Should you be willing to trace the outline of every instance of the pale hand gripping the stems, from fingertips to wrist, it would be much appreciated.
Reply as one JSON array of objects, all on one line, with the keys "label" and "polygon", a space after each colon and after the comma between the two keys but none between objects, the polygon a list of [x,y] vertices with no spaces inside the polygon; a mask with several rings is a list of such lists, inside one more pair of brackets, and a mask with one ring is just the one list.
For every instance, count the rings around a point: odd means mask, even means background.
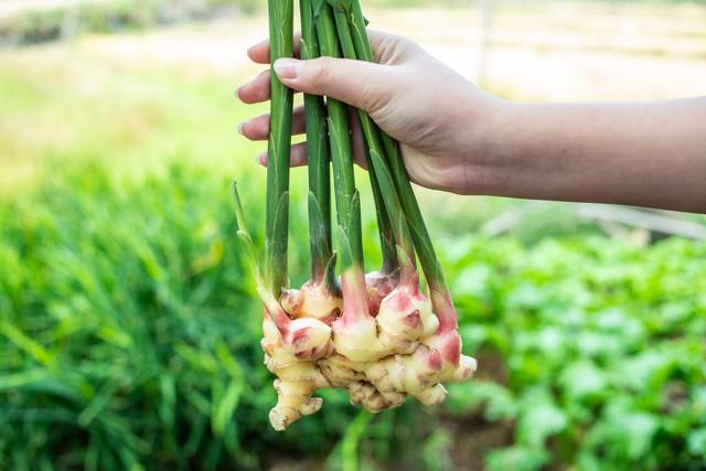
[{"label": "pale hand gripping the stems, from fingertips to wrist", "polygon": [[[488,129],[500,100],[434,58],[414,42],[370,31],[376,64],[343,58],[279,60],[275,71],[297,92],[325,95],[367,111],[373,120],[402,143],[410,179],[430,189],[473,192],[482,175]],[[298,45],[298,39],[295,40]],[[258,64],[269,64],[269,43],[248,51]],[[269,99],[270,71],[238,89],[244,103]],[[356,119],[352,122],[355,125]],[[252,140],[267,140],[269,115],[239,127]],[[362,137],[354,131],[356,162],[362,163]],[[292,133],[304,132],[303,107],[295,110]],[[266,163],[266,154],[260,156]],[[306,163],[306,146],[292,147],[293,165]]]}]

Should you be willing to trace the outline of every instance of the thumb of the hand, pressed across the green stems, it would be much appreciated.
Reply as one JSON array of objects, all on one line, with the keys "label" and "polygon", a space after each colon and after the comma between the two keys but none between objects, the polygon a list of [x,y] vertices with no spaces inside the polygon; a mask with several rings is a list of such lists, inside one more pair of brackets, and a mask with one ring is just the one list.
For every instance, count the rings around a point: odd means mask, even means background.
[{"label": "thumb of the hand, pressed across the green stems", "polygon": [[389,69],[371,62],[319,57],[310,61],[279,58],[272,67],[288,87],[325,95],[365,111],[374,110],[392,89]]}]

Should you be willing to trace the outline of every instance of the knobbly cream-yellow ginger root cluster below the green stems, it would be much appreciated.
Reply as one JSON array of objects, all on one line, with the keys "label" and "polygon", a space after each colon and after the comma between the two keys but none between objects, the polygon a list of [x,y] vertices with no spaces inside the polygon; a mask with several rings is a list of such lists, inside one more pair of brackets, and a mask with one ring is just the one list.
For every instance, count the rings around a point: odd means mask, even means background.
[{"label": "knobbly cream-yellow ginger root cluster below the green stems", "polygon": [[[392,309],[399,296],[396,289],[391,291],[383,304],[388,303]],[[405,310],[398,313],[399,318],[408,317]],[[437,334],[439,321],[430,310],[429,313],[434,319],[432,331],[406,331],[397,340],[388,336],[386,345],[379,340],[385,335],[379,314],[374,319],[359,311],[347,322],[343,314],[327,325],[329,331],[319,327],[320,321],[315,319],[291,320],[290,329],[306,332],[299,340],[296,335],[282,335],[272,317],[266,314],[263,322],[265,364],[278,377],[274,383],[278,400],[269,415],[272,427],[284,430],[301,417],[318,411],[322,399],[312,395],[323,387],[347,389],[351,404],[371,413],[397,407],[408,396],[427,406],[441,403],[447,395],[442,383],[469,379],[477,365],[466,355],[449,356],[449,350],[451,355],[460,352],[460,339],[456,332]],[[388,315],[394,318],[392,312]],[[304,320],[313,323],[295,327]],[[403,350],[406,353],[398,353]]]}]

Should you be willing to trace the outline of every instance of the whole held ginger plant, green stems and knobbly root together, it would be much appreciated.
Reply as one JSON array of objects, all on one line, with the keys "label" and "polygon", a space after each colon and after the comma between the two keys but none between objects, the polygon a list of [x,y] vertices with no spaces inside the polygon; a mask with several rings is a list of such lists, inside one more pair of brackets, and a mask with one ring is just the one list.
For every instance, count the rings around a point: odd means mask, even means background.
[{"label": "whole held ginger plant, green stems and knobbly root together", "polygon": [[[293,0],[269,0],[268,8],[270,58],[291,57]],[[300,0],[299,10],[301,58],[373,61],[359,0]],[[284,430],[318,411],[322,399],[314,393],[324,387],[346,389],[352,404],[373,413],[407,397],[439,404],[443,383],[469,379],[477,365],[461,354],[456,309],[397,142],[365,111],[353,117],[333,98],[304,95],[311,278],[288,288],[292,95],[271,77],[263,272],[235,184],[233,194],[237,235],[264,304],[265,365],[277,377],[272,427]],[[383,266],[367,275],[350,119],[359,120],[365,140],[383,253]]]}]

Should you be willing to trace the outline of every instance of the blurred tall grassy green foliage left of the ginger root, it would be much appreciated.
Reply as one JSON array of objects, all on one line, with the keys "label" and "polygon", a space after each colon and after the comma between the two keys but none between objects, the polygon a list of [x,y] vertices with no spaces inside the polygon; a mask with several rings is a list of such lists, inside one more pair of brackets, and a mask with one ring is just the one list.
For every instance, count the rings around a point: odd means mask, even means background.
[{"label": "blurred tall grassy green foliage left of the ginger root", "polygon": [[[393,413],[368,430],[372,417],[331,392],[327,414],[271,430],[229,175],[188,164],[140,179],[100,164],[52,173],[0,208],[0,467],[260,469],[338,456],[340,441],[341,467],[355,469],[363,437],[391,440],[394,424],[424,417]],[[242,176],[245,204],[263,201],[261,180]]]}]

